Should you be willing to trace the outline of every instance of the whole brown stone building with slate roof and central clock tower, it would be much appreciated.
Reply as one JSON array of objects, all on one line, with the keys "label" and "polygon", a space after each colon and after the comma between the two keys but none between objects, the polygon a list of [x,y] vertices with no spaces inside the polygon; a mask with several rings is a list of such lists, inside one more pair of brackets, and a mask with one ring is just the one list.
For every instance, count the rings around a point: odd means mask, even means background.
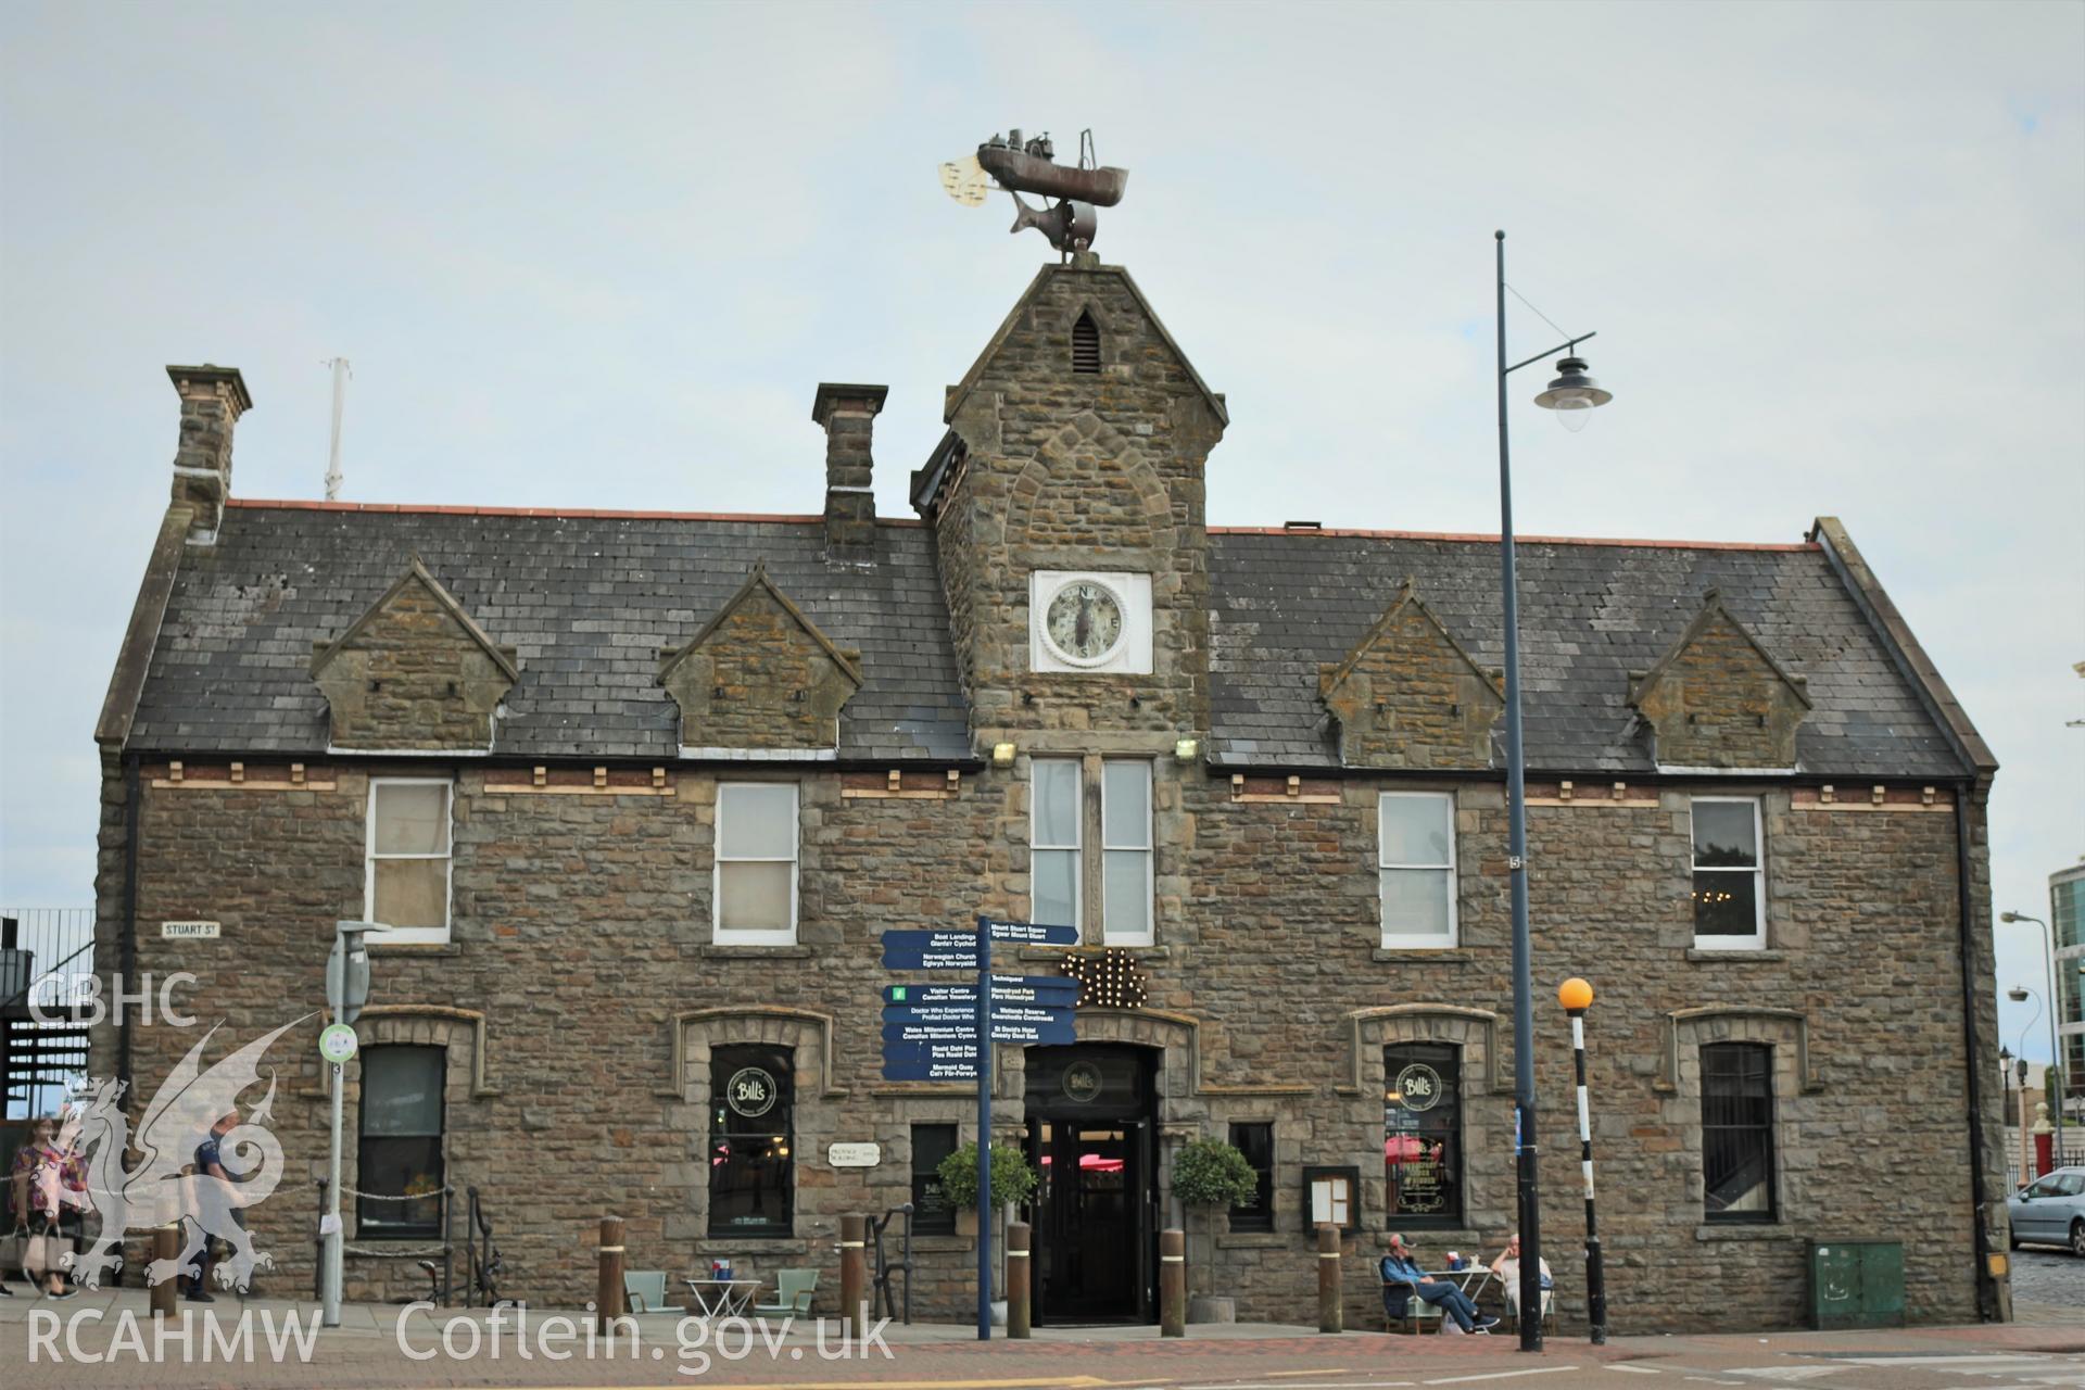
[{"label": "whole brown stone building with slate roof and central clock tower", "polygon": [[[1501,1246],[1497,544],[1209,527],[1226,400],[1122,269],[1034,277],[911,519],[874,517],[880,386],[817,388],[821,513],[723,517],[242,498],[242,375],[169,371],[173,502],[98,727],[100,967],[194,975],[217,1057],[321,1004],[338,919],[400,927],[348,1067],[350,1296],[423,1288],[384,1255],[440,1198],[382,1196],[475,1188],[532,1300],[590,1296],[617,1213],[632,1267],[815,1265],[821,1307],[838,1215],[917,1200],[915,1307],[963,1317],[932,1165],[974,1090],[884,1079],[878,938],[976,913],[1070,921],[1140,986],[992,1057],[995,1136],[1047,1173],[1042,1321],[1153,1317],[1195,1136],[1264,1175],[1184,1213],[1238,1317],[1307,1317],[1314,1219],[1362,1257],[1349,1325],[1387,1230]],[[1522,540],[1520,575],[1566,1325],[1574,973],[1618,1330],[1797,1323],[1812,1238],[1916,1234],[1912,1319],[2002,1313],[1995,765],[1847,531]],[[271,1057],[275,1288],[313,1277],[315,1029]],[[96,1071],[150,1096],[196,1036],[106,1025]]]}]

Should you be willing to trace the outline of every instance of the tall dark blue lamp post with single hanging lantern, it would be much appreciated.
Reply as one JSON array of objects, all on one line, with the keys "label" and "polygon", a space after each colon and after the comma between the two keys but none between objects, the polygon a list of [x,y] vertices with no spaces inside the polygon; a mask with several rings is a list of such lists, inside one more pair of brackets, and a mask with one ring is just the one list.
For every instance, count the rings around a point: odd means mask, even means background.
[{"label": "tall dark blue lamp post with single hanging lantern", "polygon": [[[1520,1307],[1543,1307],[1543,1221],[1541,1200],[1535,1192],[1535,977],[1528,961],[1528,806],[1526,806],[1526,763],[1520,752],[1520,602],[1514,592],[1514,473],[1505,433],[1505,377],[1539,363],[1551,352],[1564,352],[1557,363],[1557,379],[1549,383],[1535,404],[1557,411],[1566,429],[1585,425],[1585,411],[1614,400],[1614,392],[1601,390],[1599,381],[1585,375],[1585,361],[1576,356],[1580,342],[1593,333],[1580,333],[1549,352],[1507,367],[1505,363],[1505,233],[1497,233],[1499,250],[1499,586],[1505,590],[1505,811],[1510,821],[1510,844],[1505,867],[1514,890],[1514,1113],[1518,1117],[1518,1159],[1520,1159]],[[1543,1348],[1543,1319],[1520,1317],[1520,1350]]]}]

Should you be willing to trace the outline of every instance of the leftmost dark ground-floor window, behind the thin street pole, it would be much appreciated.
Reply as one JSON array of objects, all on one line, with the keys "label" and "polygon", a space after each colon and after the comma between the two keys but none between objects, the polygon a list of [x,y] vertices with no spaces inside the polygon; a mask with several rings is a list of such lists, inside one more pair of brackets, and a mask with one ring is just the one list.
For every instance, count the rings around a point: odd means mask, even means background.
[{"label": "leftmost dark ground-floor window, behind the thin street pole", "polygon": [[[363,1236],[442,1232],[442,1048],[363,1052],[354,1221]],[[396,1200],[423,1198],[423,1200]]]}]

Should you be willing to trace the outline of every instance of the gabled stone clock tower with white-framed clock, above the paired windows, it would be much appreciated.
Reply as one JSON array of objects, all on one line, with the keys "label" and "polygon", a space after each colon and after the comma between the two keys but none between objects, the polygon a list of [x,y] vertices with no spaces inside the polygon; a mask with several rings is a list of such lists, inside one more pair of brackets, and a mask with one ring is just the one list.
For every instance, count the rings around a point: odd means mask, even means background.
[{"label": "gabled stone clock tower with white-framed clock, above the paired windows", "polygon": [[[913,504],[934,525],[974,738],[1205,731],[1203,467],[1228,417],[1128,271],[1090,254],[1045,267],[945,419]],[[1053,623],[1068,584],[1082,588]]]}]

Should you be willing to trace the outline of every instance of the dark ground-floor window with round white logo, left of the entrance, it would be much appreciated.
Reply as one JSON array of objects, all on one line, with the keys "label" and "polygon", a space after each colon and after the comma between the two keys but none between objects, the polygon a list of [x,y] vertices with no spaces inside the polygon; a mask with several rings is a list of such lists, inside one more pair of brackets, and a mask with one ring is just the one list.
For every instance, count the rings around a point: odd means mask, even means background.
[{"label": "dark ground-floor window with round white logo, left of the entrance", "polygon": [[786,1048],[709,1054],[709,1234],[788,1236],[796,1086]]}]

